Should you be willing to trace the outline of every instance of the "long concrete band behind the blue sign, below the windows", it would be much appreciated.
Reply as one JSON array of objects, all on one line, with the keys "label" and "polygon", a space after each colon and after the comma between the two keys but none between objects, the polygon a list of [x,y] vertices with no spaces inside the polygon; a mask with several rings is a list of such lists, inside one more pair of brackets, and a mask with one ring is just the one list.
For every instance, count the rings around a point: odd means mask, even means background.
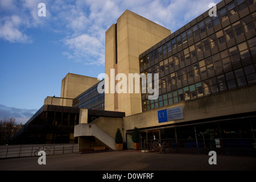
[{"label": "long concrete band behind the blue sign, below the windows", "polygon": [[[229,90],[207,97],[197,98],[178,104],[148,110],[141,114],[130,115],[124,118],[125,130],[169,125],[172,123],[195,121],[198,119],[220,117],[231,114],[256,111],[256,85]],[[158,110],[176,106],[183,106],[184,119],[176,121],[158,122]]]}]

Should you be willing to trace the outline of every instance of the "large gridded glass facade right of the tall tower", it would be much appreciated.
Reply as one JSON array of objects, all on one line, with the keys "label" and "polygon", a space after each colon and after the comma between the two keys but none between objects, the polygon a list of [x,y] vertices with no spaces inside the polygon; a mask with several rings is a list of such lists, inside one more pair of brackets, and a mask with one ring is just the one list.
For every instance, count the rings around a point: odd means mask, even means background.
[{"label": "large gridded glass facade right of the tall tower", "polygon": [[142,53],[141,73],[159,73],[159,98],[142,93],[142,110],[255,84],[255,3],[222,1]]}]

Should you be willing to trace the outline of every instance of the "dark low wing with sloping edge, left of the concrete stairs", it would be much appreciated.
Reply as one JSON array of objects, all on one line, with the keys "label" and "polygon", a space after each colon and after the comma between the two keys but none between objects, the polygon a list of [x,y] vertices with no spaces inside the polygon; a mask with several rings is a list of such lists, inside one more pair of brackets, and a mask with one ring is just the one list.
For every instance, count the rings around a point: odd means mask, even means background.
[{"label": "dark low wing with sloping edge, left of the concrete stairs", "polygon": [[79,109],[44,105],[20,129],[12,144],[77,143],[74,126],[79,123]]}]

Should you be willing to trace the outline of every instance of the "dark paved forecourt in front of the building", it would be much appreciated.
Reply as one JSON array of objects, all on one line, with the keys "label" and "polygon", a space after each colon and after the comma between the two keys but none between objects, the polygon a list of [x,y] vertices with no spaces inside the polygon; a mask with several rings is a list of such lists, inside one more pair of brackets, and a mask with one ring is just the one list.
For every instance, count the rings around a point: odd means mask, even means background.
[{"label": "dark paved forecourt in front of the building", "polygon": [[124,150],[93,154],[0,159],[0,171],[256,171],[256,158],[217,155],[217,164],[208,163],[208,155],[158,154]]}]

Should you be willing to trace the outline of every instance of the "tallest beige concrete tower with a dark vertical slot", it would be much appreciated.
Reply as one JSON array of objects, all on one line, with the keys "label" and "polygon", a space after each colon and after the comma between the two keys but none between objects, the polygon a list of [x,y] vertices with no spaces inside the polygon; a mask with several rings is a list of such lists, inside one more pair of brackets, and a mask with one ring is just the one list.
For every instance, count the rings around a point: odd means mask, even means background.
[{"label": "tallest beige concrete tower with a dark vertical slot", "polygon": [[[139,74],[139,54],[170,34],[167,28],[126,10],[117,19],[117,24],[106,31],[105,73],[110,77],[110,69],[115,68],[115,72],[124,73],[127,78],[129,73]],[[115,100],[118,100],[118,105]],[[141,113],[141,94],[129,94],[128,90],[118,95],[105,93],[105,110],[122,111],[126,115]]]}]

